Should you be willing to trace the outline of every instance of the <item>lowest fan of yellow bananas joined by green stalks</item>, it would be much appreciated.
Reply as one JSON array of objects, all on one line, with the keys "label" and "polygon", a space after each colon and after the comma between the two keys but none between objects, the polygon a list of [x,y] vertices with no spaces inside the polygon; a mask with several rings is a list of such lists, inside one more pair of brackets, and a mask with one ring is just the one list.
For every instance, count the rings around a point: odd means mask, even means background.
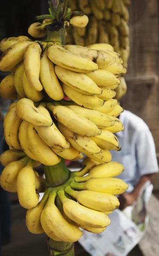
[{"label": "lowest fan of yellow bananas joined by green stalks", "polygon": [[81,171],[72,172],[63,185],[47,188],[38,205],[28,209],[28,230],[45,232],[51,239],[65,242],[80,239],[81,229],[102,233],[111,222],[107,215],[119,207],[115,195],[128,187],[115,178],[123,170],[119,163],[99,164],[85,157]]}]

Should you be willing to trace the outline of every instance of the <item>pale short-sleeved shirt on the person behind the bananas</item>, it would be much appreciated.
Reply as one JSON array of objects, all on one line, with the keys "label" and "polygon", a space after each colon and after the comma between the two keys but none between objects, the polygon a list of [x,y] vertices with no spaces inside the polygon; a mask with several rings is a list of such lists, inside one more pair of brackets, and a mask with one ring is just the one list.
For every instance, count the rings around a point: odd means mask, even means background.
[{"label": "pale short-sleeved shirt on the person behind the bananas", "polygon": [[159,171],[153,136],[146,123],[130,111],[120,115],[124,131],[116,133],[121,151],[110,151],[112,160],[123,164],[125,170],[118,178],[124,180],[132,192],[143,175]]}]

